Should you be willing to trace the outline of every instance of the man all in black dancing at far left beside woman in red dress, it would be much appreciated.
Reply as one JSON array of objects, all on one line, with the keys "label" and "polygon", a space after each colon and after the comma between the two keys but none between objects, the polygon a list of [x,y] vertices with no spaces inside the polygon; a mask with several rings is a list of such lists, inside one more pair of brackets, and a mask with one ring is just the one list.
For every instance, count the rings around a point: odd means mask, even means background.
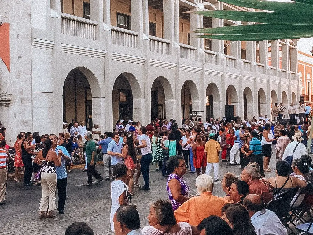
[{"label": "man all in black dancing at far left beside woman in red dress", "polygon": [[24,186],[32,186],[33,184],[30,182],[33,175],[33,161],[32,155],[37,155],[38,153],[34,153],[30,150],[31,142],[33,140],[32,133],[27,132],[25,134],[25,139],[22,143],[22,161],[25,166],[24,171]]}]

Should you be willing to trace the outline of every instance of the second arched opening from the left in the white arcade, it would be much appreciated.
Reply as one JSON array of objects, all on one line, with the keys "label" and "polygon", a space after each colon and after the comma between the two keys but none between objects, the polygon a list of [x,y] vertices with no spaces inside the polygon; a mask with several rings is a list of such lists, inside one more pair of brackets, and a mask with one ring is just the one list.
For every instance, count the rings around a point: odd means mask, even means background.
[{"label": "second arched opening from the left in the white arcade", "polygon": [[[134,92],[133,92],[134,91]],[[141,98],[141,89],[136,78],[128,72],[117,76],[113,90],[113,125],[117,120],[141,121],[142,106],[136,100]],[[135,109],[135,107],[137,107]],[[134,113],[134,110],[137,110]]]}]

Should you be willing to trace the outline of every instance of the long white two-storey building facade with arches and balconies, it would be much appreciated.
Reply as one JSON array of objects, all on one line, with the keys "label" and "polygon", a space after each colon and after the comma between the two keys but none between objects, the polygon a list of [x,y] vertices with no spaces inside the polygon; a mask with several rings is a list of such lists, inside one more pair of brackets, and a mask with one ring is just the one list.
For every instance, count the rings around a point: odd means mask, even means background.
[{"label": "long white two-storey building facade with arches and balconies", "polygon": [[22,130],[58,133],[71,119],[104,131],[118,119],[147,124],[191,111],[222,118],[226,105],[233,116],[252,118],[270,115],[271,103],[300,98],[296,40],[229,42],[192,33],[250,24],[194,10],[248,8],[215,0],[0,4],[0,32],[7,25],[10,45],[9,63],[0,54],[0,120],[11,144]]}]

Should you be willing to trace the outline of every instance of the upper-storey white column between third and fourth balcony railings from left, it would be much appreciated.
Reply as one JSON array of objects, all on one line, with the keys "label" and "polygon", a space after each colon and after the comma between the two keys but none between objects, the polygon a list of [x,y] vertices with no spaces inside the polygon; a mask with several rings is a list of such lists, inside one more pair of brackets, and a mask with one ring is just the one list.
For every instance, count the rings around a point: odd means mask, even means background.
[{"label": "upper-storey white column between third and fourth balcony railings from left", "polygon": [[[178,16],[177,16],[178,17]],[[172,43],[169,44],[169,54],[174,54],[174,42],[175,35],[178,34],[179,40],[179,26],[178,19],[176,19],[176,15],[174,15],[174,2],[172,0],[163,0],[163,19],[164,22],[164,39],[170,40]]]}]

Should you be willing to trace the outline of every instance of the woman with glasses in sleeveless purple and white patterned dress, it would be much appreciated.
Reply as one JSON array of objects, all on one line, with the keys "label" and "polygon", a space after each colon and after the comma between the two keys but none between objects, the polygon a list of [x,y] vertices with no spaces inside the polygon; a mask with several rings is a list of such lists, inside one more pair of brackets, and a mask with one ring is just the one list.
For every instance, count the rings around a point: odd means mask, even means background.
[{"label": "woman with glasses in sleeveless purple and white patterned dress", "polygon": [[192,195],[189,194],[190,187],[182,177],[186,173],[186,163],[181,156],[172,156],[168,160],[167,170],[171,172],[168,176],[166,189],[173,210],[175,211],[182,203],[187,201]]}]

